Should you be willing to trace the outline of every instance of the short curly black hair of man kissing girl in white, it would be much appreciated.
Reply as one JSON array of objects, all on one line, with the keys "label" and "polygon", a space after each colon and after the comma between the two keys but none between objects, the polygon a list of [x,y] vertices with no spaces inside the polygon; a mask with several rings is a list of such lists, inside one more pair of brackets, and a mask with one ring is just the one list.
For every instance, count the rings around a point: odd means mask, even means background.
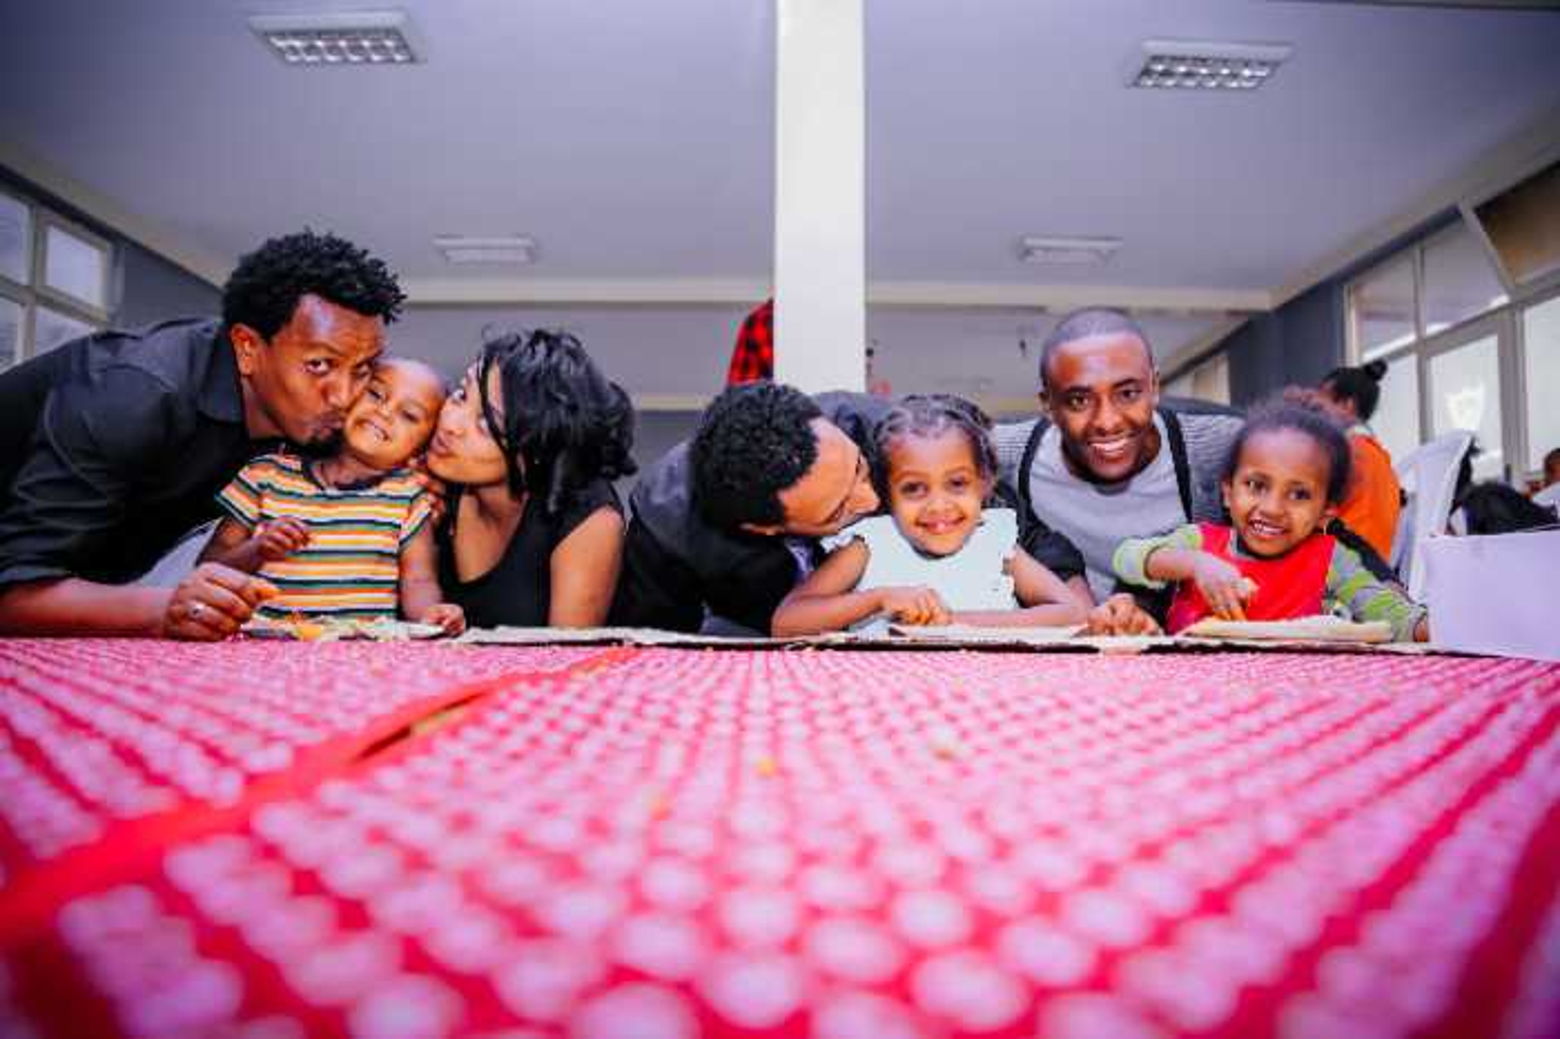
[{"label": "short curly black hair of man kissing girl in white", "polygon": [[777,382],[733,385],[714,398],[690,448],[699,515],[724,530],[785,523],[780,491],[817,462],[811,423],[822,413],[813,398]]}]

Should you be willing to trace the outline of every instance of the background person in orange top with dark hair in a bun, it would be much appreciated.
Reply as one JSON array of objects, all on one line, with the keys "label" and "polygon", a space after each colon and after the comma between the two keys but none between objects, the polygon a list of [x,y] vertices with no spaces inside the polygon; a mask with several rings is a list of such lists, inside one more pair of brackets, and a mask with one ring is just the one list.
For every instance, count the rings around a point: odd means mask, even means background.
[{"label": "background person in orange top with dark hair in a bun", "polygon": [[1338,520],[1360,535],[1382,559],[1392,557],[1392,538],[1402,512],[1402,487],[1392,471],[1392,456],[1376,440],[1367,423],[1381,401],[1385,360],[1359,368],[1334,368],[1321,381],[1320,398],[1342,415],[1349,435],[1348,495],[1338,505]]}]

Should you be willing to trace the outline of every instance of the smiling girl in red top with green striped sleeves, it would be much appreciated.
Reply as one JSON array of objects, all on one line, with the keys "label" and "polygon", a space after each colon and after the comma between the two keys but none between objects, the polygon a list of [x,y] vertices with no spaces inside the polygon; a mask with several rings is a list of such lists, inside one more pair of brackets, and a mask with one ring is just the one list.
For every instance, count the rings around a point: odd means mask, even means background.
[{"label": "smiling girl in red top with green striped sleeves", "polygon": [[1331,418],[1289,401],[1260,406],[1225,466],[1231,526],[1187,524],[1129,538],[1115,551],[1115,569],[1131,583],[1178,582],[1165,622],[1172,633],[1209,615],[1284,621],[1343,613],[1387,621],[1398,640],[1424,641],[1424,608],[1321,532],[1348,485],[1349,445]]}]

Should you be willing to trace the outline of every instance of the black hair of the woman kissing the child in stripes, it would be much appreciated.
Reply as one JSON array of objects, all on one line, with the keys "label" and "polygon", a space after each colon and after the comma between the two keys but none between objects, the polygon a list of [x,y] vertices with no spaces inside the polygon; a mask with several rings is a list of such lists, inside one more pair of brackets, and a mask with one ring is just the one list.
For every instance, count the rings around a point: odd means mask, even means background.
[{"label": "black hair of the woman kissing the child in stripes", "polygon": [[[488,398],[498,371],[502,418]],[[507,332],[482,343],[477,393],[482,415],[504,451],[509,485],[541,501],[548,513],[565,507],[587,482],[636,471],[633,406],[621,385],[563,331]]]}]

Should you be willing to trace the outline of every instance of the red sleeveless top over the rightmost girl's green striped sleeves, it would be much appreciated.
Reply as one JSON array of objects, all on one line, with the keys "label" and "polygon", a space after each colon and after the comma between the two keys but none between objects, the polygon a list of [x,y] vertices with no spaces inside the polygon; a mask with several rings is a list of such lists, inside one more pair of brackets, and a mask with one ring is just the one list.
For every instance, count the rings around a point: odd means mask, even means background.
[{"label": "red sleeveless top over the rightmost girl's green striped sleeves", "polygon": [[[1246,602],[1248,621],[1289,621],[1296,616],[1321,613],[1321,593],[1328,585],[1328,566],[1332,563],[1334,540],[1326,534],[1312,534],[1278,559],[1248,559],[1231,552],[1232,527],[1211,523],[1197,524],[1203,532],[1203,551],[1236,568],[1257,583],[1257,591]],[[1165,629],[1175,635],[1181,629],[1211,616],[1195,580],[1176,585],[1170,601]]]}]

